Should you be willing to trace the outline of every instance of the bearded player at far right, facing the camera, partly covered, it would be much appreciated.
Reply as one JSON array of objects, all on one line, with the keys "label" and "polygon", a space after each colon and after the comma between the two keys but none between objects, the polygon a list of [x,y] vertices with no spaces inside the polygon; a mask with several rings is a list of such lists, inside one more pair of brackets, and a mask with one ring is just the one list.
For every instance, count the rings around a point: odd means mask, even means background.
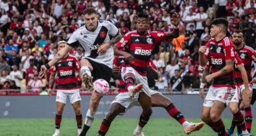
[{"label": "bearded player at far right, facing the camera, partly covered", "polygon": [[[240,31],[236,31],[233,33],[233,43],[235,45],[235,51],[239,54],[240,59],[244,63],[244,68],[246,69],[246,74],[248,76],[249,84],[251,82],[251,61],[256,62],[256,52],[251,47],[244,45],[244,35]],[[252,113],[251,113],[251,85],[250,89],[245,89],[247,86],[243,80],[240,73],[237,73],[238,69],[235,68],[235,73],[237,74],[237,78],[235,80],[236,84],[239,86],[240,94],[242,95],[242,103],[240,104],[240,109],[244,109],[246,120],[246,128],[250,132],[251,131],[251,123],[252,123]],[[232,134],[235,129],[235,119],[233,119],[231,127],[227,132]],[[239,133],[238,133],[239,135]]]}]

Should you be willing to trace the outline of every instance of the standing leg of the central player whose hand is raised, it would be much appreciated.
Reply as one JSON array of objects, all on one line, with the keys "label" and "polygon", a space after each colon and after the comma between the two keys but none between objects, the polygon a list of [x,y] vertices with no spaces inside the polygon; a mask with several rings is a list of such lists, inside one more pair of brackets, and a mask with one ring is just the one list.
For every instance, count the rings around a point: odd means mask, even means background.
[{"label": "standing leg of the central player whose hand is raised", "polygon": [[150,96],[141,92],[139,94],[139,104],[141,104],[141,107],[143,108],[143,112],[141,113],[141,117],[139,117],[139,123],[137,125],[137,128],[134,130],[134,135],[135,136],[144,136],[142,129],[144,128],[144,126],[150,119],[150,115],[152,114]]}]

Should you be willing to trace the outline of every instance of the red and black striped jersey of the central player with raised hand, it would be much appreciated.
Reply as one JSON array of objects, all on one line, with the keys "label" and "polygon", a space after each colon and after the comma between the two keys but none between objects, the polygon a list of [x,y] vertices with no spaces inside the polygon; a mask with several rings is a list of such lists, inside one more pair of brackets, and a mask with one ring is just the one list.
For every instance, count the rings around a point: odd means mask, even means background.
[{"label": "red and black striped jersey of the central player with raised hand", "polygon": [[134,56],[134,63],[130,63],[131,67],[146,76],[146,67],[151,58],[154,45],[165,40],[165,32],[150,32],[146,36],[138,34],[137,30],[128,32],[122,40],[117,43],[119,48],[128,47],[129,53]]}]

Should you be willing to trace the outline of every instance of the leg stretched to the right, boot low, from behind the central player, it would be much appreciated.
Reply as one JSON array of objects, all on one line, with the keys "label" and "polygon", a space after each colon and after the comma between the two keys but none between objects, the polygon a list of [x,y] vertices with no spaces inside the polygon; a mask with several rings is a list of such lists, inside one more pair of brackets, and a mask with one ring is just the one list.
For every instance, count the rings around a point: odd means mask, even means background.
[{"label": "leg stretched to the right, boot low, from behind the central player", "polygon": [[152,100],[152,107],[162,107],[167,110],[170,117],[176,119],[183,127],[184,127],[184,133],[191,133],[192,131],[200,130],[204,123],[189,123],[185,119],[185,117],[182,115],[182,113],[176,109],[174,104],[172,104],[172,101],[167,98],[166,96],[163,96],[161,93],[155,93],[154,95],[151,95]]}]

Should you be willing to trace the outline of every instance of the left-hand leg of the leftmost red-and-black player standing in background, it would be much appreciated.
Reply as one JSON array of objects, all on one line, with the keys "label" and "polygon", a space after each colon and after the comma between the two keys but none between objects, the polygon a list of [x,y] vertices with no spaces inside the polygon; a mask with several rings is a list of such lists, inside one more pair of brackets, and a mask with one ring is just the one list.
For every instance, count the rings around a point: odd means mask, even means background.
[{"label": "left-hand leg of the leftmost red-and-black player standing in background", "polygon": [[60,135],[60,123],[62,122],[62,113],[65,104],[62,102],[57,102],[57,112],[55,115],[55,133],[52,136]]}]

